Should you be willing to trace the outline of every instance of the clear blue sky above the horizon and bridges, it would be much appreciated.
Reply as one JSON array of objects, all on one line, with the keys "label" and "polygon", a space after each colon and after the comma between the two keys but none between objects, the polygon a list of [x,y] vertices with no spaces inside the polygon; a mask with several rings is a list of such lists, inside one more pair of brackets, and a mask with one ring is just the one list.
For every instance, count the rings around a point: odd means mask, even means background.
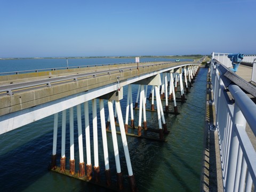
[{"label": "clear blue sky above the horizon and bridges", "polygon": [[1,0],[0,58],[256,54],[256,0]]}]

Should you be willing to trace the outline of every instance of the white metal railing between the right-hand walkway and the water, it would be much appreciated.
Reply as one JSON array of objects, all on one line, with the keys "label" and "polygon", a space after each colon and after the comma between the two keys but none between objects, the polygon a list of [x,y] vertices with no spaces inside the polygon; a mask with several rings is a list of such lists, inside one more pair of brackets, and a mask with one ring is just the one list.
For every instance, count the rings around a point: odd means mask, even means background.
[{"label": "white metal railing between the right-hand walkway and the water", "polygon": [[[215,126],[219,135],[223,188],[225,191],[255,191],[256,152],[245,131],[245,126],[247,123],[256,135],[256,105],[240,87],[234,83],[228,85],[223,83],[227,81],[219,69],[221,64],[212,61],[210,73],[215,102]],[[233,100],[230,100],[227,89]]]}]

